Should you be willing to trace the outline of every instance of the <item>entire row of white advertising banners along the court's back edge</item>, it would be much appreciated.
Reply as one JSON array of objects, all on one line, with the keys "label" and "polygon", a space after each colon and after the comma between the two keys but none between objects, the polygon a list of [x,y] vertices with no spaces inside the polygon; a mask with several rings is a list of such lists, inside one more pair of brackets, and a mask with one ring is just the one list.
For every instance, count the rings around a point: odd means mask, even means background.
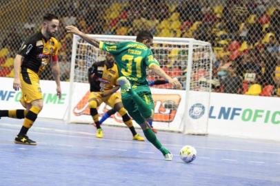
[{"label": "entire row of white advertising banners along the court's back edge", "polygon": [[[0,110],[23,109],[19,103],[21,92],[12,89],[12,81],[10,78],[0,78]],[[60,100],[56,96],[54,81],[40,81],[40,85],[44,106],[39,117],[63,119],[70,103],[69,121],[92,123],[88,108],[88,83],[74,83],[71,101],[68,96],[69,83],[61,82]],[[206,95],[201,95],[203,92],[192,92],[191,96],[195,99],[192,99],[188,109],[185,109],[185,91],[151,90],[154,99],[153,125],[159,130],[181,132],[183,125],[186,125],[194,130],[205,128],[208,134],[280,141],[279,97],[211,93],[209,102],[201,99],[208,97],[207,92],[204,92]],[[103,103],[99,107],[99,114],[102,115],[109,109],[110,107]],[[186,121],[187,115],[193,120],[190,122],[193,126],[188,126],[190,123]],[[124,126],[119,114],[114,114],[106,124]]]}]

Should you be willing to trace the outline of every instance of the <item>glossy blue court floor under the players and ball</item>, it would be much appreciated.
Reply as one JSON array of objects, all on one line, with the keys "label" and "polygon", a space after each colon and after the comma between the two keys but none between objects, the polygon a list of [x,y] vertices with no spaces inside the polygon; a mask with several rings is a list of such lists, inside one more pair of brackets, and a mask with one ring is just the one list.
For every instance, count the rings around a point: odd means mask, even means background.
[{"label": "glossy blue court floor under the players and ball", "polygon": [[[98,139],[92,125],[39,119],[28,132],[38,145],[30,146],[13,143],[21,123],[0,119],[0,186],[280,185],[276,141],[158,132],[174,154],[168,162],[150,143],[132,141],[124,127],[103,126]],[[183,145],[197,149],[193,163],[179,158]]]}]

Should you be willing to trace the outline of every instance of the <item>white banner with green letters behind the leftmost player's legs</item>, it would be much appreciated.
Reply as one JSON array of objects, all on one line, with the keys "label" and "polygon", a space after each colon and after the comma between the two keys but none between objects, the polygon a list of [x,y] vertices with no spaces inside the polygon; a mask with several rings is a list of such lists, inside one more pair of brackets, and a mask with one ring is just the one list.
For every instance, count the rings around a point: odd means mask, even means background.
[{"label": "white banner with green letters behind the leftmost player's legs", "polygon": [[[23,109],[19,102],[21,91],[12,89],[12,78],[0,77],[0,110]],[[69,83],[61,82],[61,99],[57,97],[57,85],[55,81],[40,81],[43,93],[43,110],[39,113],[42,118],[63,119],[68,108]]]}]

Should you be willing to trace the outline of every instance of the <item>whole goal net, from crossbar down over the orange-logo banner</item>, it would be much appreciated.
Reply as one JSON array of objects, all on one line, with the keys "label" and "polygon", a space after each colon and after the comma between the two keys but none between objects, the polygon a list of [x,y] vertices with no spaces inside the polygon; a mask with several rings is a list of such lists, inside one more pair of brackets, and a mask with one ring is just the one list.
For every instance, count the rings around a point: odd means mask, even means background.
[{"label": "whole goal net, from crossbar down over the orange-logo banner", "polygon": [[[94,35],[91,37],[108,43],[135,40],[134,37],[108,35]],[[190,42],[192,42],[192,48],[190,48]],[[74,42],[73,48],[76,48],[76,50],[72,52],[74,54],[74,70],[72,74],[73,81],[70,83],[88,83],[88,68],[90,68],[92,63],[103,61],[106,53],[99,50],[99,48],[95,48],[93,45],[88,44],[79,37],[77,37],[77,43]],[[212,50],[210,43],[195,41],[192,39],[179,40],[155,37],[154,45],[152,45],[151,49],[154,58],[161,64],[161,68],[163,68],[163,70],[170,76],[176,77],[183,85],[183,89],[186,89],[186,73],[188,71],[191,73],[190,90],[210,92],[212,72]],[[192,54],[192,59],[189,59],[190,54]],[[192,63],[188,64],[189,60],[191,60]],[[190,65],[189,68],[188,65]],[[150,83],[154,83],[157,80],[163,80],[150,70],[147,72],[147,79]],[[172,85],[168,83],[150,86],[154,88],[173,89]],[[75,91],[77,91],[77,87],[73,85],[72,92]],[[83,99],[81,99],[76,107],[74,107],[74,115],[90,115],[90,110],[87,107],[89,90],[86,90],[86,92]],[[181,97],[179,94],[172,94],[172,92],[168,92],[168,94],[162,94],[162,92],[161,94],[158,93],[159,92],[155,91],[152,95],[155,103],[154,121],[170,123],[174,120]],[[103,114],[108,109],[110,109],[110,107],[101,105],[101,107],[99,107],[99,114]],[[118,118],[117,114],[115,118]],[[72,121],[79,123],[88,122],[79,120],[78,117]]]}]

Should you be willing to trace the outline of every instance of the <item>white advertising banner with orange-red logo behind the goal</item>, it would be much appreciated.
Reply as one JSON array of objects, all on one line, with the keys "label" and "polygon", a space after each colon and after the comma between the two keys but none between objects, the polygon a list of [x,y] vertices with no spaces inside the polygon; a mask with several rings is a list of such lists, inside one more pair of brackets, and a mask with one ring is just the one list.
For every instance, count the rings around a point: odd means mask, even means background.
[{"label": "white advertising banner with orange-red logo behind the goal", "polygon": [[[88,107],[88,97],[90,95],[88,83],[73,83],[72,101],[69,121],[72,123],[92,123],[90,109]],[[79,91],[78,91],[79,90]],[[183,118],[185,103],[184,91],[151,89],[154,100],[154,122],[153,126],[159,130],[182,131],[181,118]],[[105,103],[99,106],[99,114],[103,115],[110,107]],[[105,124],[123,124],[121,116],[116,113],[106,120]],[[134,126],[138,127],[134,122]]]}]

